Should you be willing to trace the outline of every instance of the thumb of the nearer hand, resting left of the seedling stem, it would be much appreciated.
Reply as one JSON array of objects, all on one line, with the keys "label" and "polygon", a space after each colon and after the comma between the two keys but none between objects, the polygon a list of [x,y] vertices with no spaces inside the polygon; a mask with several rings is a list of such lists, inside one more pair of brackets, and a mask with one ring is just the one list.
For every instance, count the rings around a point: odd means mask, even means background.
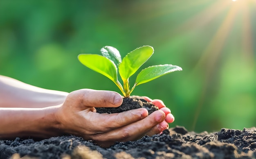
[{"label": "thumb of the nearer hand, resting left of the seedling stem", "polygon": [[123,102],[122,96],[115,91],[80,89],[71,92],[70,96],[85,107],[118,107]]}]

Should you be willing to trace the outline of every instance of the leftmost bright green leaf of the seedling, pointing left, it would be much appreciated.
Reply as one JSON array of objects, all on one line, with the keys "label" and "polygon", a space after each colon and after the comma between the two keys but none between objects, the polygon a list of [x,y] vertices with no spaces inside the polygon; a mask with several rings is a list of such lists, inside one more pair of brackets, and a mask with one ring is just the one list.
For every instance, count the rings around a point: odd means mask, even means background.
[{"label": "leftmost bright green leaf of the seedling, pointing left", "polygon": [[99,54],[79,54],[79,61],[86,67],[103,74],[111,81],[116,83],[117,80],[117,67],[113,61],[103,57]]}]

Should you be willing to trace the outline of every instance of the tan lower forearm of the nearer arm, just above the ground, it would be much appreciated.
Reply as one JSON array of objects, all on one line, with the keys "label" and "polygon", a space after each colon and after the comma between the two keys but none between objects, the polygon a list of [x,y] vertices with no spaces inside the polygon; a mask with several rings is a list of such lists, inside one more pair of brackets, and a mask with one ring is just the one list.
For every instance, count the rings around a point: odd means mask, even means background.
[{"label": "tan lower forearm of the nearer arm, just above the ground", "polygon": [[55,118],[58,106],[47,108],[0,108],[0,139],[47,138],[63,135]]}]

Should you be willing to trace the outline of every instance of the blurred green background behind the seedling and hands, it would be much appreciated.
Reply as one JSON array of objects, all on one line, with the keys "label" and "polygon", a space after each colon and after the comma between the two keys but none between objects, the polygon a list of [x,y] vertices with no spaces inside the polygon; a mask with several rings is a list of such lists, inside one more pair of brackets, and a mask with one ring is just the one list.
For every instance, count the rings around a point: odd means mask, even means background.
[{"label": "blurred green background behind the seedling and hands", "polygon": [[31,85],[121,93],[77,55],[113,46],[124,57],[144,45],[155,53],[141,69],[183,68],[132,93],[163,100],[170,127],[256,125],[256,0],[0,0],[0,74]]}]

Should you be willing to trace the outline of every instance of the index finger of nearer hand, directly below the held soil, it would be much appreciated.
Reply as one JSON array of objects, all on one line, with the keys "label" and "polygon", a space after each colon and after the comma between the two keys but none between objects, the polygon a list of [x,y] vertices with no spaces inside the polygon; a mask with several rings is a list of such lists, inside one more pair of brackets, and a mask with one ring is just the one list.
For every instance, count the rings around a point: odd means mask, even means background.
[{"label": "index finger of nearer hand, directly below the held soil", "polygon": [[[148,111],[145,108],[132,109],[121,113],[93,113],[90,118],[94,120],[94,131],[106,132],[113,129],[118,129],[148,116]],[[97,123],[97,124],[96,124]]]}]

